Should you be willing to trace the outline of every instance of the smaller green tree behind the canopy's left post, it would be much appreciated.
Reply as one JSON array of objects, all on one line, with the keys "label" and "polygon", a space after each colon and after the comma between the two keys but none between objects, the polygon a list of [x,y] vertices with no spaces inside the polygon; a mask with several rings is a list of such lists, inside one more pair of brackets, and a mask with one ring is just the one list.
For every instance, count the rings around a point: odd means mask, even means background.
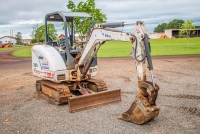
[{"label": "smaller green tree behind the canopy's left post", "polygon": [[[52,40],[56,40],[57,39],[57,31],[54,27],[54,24],[48,24],[47,25],[47,28],[48,28],[48,35],[49,37],[52,39]],[[45,25],[41,25],[41,26],[34,26],[33,27],[33,31],[32,31],[32,40],[31,42],[32,43],[35,43],[35,42],[44,42],[45,41]]]}]

